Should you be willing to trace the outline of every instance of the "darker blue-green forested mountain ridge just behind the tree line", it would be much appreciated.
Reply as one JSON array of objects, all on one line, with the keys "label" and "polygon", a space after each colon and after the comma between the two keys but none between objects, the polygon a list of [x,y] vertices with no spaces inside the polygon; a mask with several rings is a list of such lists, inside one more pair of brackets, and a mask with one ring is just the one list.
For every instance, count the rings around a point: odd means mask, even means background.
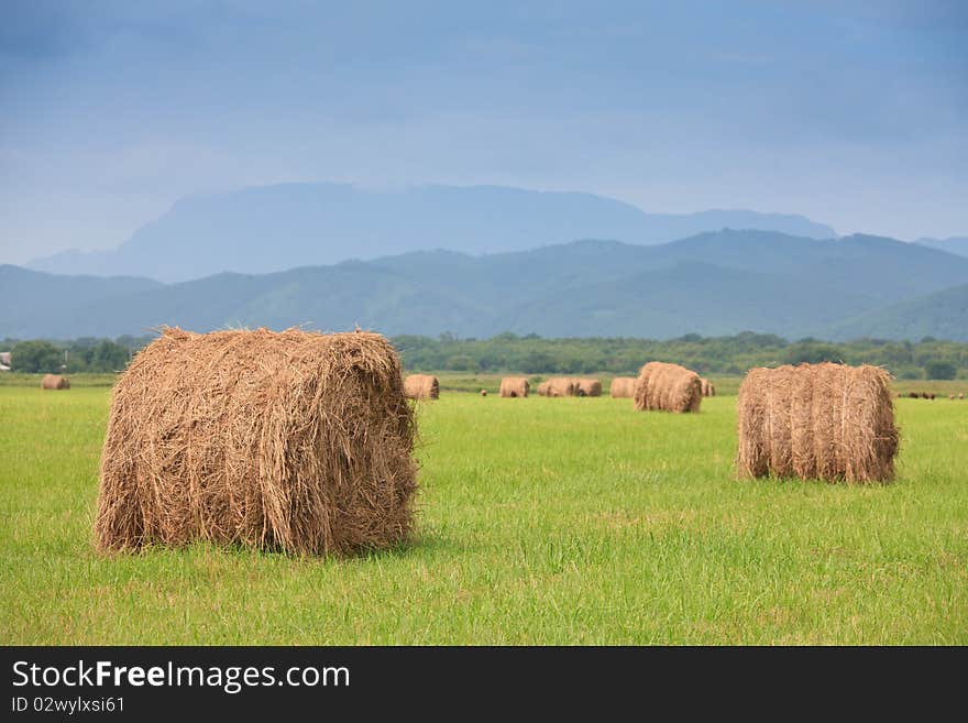
[{"label": "darker blue-green forested mountain ridge just behind the tree line", "polygon": [[703,232],[474,255],[419,251],[179,283],[0,266],[0,337],[145,333],[169,324],[387,335],[671,338],[743,330],[968,341],[968,258],[870,235]]}]

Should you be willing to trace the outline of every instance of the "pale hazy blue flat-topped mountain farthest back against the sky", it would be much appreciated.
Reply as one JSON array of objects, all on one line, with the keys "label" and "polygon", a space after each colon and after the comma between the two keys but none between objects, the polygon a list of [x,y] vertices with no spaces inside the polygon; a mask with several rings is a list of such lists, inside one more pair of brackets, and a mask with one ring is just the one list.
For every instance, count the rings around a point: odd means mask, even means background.
[{"label": "pale hazy blue flat-topped mountain farthest back against the sky", "polygon": [[828,239],[802,216],[711,210],[647,213],[592,194],[498,186],[374,190],[284,184],[190,196],[119,248],[36,259],[34,271],[183,282],[221,272],[265,274],[427,249],[470,254],[524,251],[575,239],[667,243],[723,228]]}]

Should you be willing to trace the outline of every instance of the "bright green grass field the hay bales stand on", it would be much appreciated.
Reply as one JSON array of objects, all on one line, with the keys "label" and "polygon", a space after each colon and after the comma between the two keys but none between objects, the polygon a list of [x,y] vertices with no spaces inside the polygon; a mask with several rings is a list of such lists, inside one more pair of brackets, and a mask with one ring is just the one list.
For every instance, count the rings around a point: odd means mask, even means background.
[{"label": "bright green grass field the hay bales stand on", "polygon": [[352,559],[90,546],[108,390],[0,388],[3,644],[968,644],[968,401],[886,486],[737,481],[735,397],[444,395],[419,535]]}]

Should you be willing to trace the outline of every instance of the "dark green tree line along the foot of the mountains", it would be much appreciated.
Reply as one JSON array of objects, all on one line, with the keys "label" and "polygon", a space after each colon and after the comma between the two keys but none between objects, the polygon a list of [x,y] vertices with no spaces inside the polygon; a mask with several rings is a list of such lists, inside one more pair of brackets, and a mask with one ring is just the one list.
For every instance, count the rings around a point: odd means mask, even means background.
[{"label": "dark green tree line along the foot of the mountains", "polygon": [[[7,339],[21,372],[117,372],[153,337],[85,337],[70,341]],[[746,331],[730,337],[686,335],[663,341],[632,338],[544,339],[510,332],[490,339],[398,336],[392,338],[409,371],[527,374],[634,374],[647,361],[669,361],[701,374],[740,375],[752,366],[800,362],[878,364],[899,379],[968,377],[968,344],[925,337],[921,341],[858,339],[834,343],[817,339],[788,341]]]}]

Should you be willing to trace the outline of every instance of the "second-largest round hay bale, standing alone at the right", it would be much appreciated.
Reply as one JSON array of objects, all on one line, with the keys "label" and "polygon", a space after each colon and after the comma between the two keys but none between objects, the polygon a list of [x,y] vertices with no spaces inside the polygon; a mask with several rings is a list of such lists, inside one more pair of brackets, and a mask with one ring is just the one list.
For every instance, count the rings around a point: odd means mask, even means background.
[{"label": "second-largest round hay bale, standing alone at the right", "polygon": [[889,481],[897,453],[890,376],[878,366],[752,369],[739,388],[740,475]]}]

